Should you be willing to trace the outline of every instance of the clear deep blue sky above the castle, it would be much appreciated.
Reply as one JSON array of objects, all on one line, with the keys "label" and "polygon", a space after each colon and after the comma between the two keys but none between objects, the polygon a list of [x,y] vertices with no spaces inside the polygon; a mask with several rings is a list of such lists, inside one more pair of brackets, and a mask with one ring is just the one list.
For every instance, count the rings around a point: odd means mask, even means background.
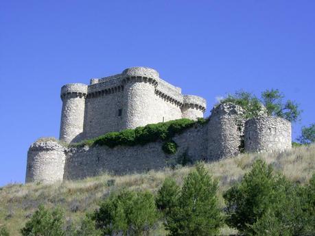
[{"label": "clear deep blue sky above the castle", "polygon": [[27,149],[58,137],[60,87],[148,66],[208,101],[278,88],[315,122],[315,1],[0,3],[0,185],[24,182]]}]

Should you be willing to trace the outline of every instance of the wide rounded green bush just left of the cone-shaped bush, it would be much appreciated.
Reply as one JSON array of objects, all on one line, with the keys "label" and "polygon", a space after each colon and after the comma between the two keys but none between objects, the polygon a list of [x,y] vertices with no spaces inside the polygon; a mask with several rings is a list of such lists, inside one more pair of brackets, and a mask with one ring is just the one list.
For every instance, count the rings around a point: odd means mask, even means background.
[{"label": "wide rounded green bush just left of the cone-shaped bush", "polygon": [[157,219],[154,196],[128,190],[112,194],[93,215],[103,235],[142,235],[152,229]]}]

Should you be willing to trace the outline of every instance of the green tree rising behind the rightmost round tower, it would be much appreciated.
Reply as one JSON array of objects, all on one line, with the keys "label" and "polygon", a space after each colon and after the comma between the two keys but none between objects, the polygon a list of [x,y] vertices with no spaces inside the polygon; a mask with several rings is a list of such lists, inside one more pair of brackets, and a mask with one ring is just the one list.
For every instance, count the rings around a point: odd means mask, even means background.
[{"label": "green tree rising behind the rightmost round tower", "polygon": [[284,95],[279,90],[266,90],[261,93],[261,102],[267,109],[268,116],[279,116],[295,122],[301,115],[299,105],[291,100],[283,102]]}]

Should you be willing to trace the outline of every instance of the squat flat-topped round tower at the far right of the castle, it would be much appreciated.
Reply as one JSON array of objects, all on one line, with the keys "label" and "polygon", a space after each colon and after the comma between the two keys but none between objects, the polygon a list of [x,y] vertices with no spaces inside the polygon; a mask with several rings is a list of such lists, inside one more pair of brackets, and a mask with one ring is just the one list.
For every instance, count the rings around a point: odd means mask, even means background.
[{"label": "squat flat-topped round tower at the far right of the castle", "polygon": [[247,120],[244,129],[245,150],[277,152],[292,147],[291,122],[279,117]]}]

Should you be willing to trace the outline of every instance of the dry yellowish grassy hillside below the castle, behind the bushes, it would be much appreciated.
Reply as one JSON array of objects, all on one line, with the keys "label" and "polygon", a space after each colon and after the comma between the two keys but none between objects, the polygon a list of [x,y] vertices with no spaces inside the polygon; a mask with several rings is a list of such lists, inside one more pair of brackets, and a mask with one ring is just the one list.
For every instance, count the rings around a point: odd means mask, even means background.
[{"label": "dry yellowish grassy hillside below the castle, behind the bushes", "polygon": [[[240,181],[250,170],[255,159],[264,159],[272,163],[292,181],[307,182],[315,172],[315,145],[293,148],[284,153],[274,154],[243,154],[235,158],[207,163],[206,168],[219,180],[220,201],[222,207],[222,192]],[[54,185],[41,184],[10,184],[0,187],[0,226],[5,224],[11,235],[19,235],[19,229],[30,218],[41,203],[47,207],[60,206],[67,215],[67,224],[78,222],[86,212],[97,208],[97,203],[106,198],[110,192],[117,189],[150,189],[156,193],[166,176],[173,176],[183,183],[183,177],[191,167],[180,167],[175,170],[165,169],[159,172],[150,171],[145,174],[129,174],[111,176],[103,174],[82,181],[66,181]],[[224,227],[222,235],[229,235],[233,230]],[[157,227],[152,235],[165,235],[163,227]]]}]

